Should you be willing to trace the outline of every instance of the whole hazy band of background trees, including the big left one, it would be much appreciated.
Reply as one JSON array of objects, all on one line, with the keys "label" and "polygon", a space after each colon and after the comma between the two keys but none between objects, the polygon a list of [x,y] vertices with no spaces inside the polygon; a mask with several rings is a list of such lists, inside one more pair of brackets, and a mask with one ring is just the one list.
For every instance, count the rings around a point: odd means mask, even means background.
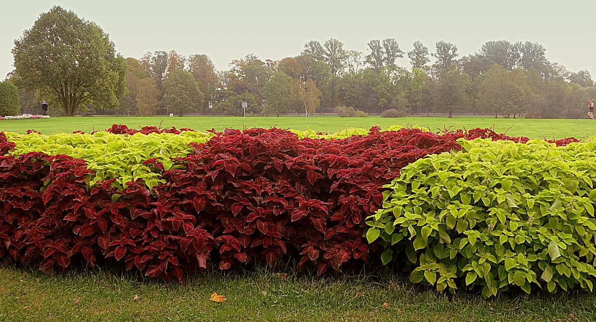
[{"label": "whole hazy band of background trees, including the big left one", "polygon": [[[48,48],[48,37],[40,30],[68,23],[82,26],[83,33],[99,35],[104,47],[79,52],[56,42],[50,51],[60,58],[52,60],[45,52],[40,60],[35,40],[44,39],[42,44]],[[59,38],[66,42],[70,34],[62,28],[53,32],[64,32]],[[73,37],[80,44],[80,35]],[[36,91],[37,96],[54,97],[53,102],[63,106],[66,114],[74,114],[77,107],[91,112],[107,107],[117,114],[138,116],[166,110],[176,115],[308,116],[346,106],[365,113],[396,110],[402,116],[468,113],[578,118],[586,117],[586,102],[596,94],[588,70],[570,72],[548,60],[546,49],[536,42],[489,41],[463,57],[455,44],[446,41],[436,42],[431,49],[416,41],[407,52],[393,38],[374,39],[367,45],[365,54],[344,48],[338,39],[309,41],[293,57],[262,60],[248,54],[232,60],[228,70],[217,70],[207,55],[184,57],[173,50],[125,59],[114,52],[113,43],[97,25],[81,23],[72,11],[54,7],[15,41],[16,68],[11,76],[19,87],[21,109],[35,107]],[[93,52],[101,53],[103,60],[89,58]],[[403,57],[409,58],[408,66],[396,63]],[[45,68],[42,64],[50,63],[52,70],[45,72],[45,78],[39,77],[39,70]],[[86,70],[78,68],[81,65]],[[100,76],[85,79],[90,69],[100,70]],[[64,85],[65,79],[69,86],[85,89],[74,95],[76,100],[65,101],[69,95],[54,94],[64,86],[43,83]],[[243,102],[248,103],[246,110]]]}]

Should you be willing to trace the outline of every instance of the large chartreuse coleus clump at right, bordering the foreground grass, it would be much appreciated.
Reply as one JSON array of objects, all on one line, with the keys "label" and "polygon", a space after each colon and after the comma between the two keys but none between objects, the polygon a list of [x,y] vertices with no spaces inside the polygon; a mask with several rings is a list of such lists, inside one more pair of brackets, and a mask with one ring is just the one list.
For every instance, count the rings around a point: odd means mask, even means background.
[{"label": "large chartreuse coleus clump at right, bordering the foreground grass", "polygon": [[365,236],[440,291],[592,291],[596,143],[458,140],[385,185]]}]

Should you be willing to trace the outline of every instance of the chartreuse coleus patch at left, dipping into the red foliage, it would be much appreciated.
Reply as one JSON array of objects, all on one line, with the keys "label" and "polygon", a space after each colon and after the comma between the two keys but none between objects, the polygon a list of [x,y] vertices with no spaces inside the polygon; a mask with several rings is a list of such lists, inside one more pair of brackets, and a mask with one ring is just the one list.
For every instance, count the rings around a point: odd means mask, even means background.
[{"label": "chartreuse coleus patch at left, dipping into the red foliage", "polygon": [[87,161],[88,168],[94,171],[94,175],[86,179],[89,185],[116,179],[114,187],[126,187],[126,182],[135,178],[142,179],[149,188],[164,182],[162,171],[182,167],[175,165],[170,157],[185,157],[192,151],[189,143],[205,143],[215,135],[193,131],[147,135],[108,132],[5,134],[8,141],[16,144],[15,150],[10,151],[13,156],[39,151],[49,155],[66,154]]}]

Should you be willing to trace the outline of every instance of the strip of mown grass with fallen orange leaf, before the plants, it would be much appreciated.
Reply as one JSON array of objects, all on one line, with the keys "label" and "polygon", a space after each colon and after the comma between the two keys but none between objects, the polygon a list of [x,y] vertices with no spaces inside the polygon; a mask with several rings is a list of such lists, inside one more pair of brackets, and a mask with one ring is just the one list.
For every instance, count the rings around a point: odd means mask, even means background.
[{"label": "strip of mown grass with fallen orange leaf, before the plants", "polygon": [[[209,301],[217,292],[227,300]],[[557,320],[560,319],[560,320]],[[588,293],[449,296],[392,276],[194,275],[166,284],[98,269],[0,268],[0,321],[595,321]]]}]

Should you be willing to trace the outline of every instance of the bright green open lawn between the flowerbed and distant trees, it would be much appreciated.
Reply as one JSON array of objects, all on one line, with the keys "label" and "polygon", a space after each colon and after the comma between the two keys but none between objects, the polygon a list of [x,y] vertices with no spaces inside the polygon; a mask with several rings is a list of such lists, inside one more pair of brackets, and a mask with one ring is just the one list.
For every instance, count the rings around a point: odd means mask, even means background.
[{"label": "bright green open lawn between the flowerbed and distant trees", "polygon": [[579,139],[596,135],[596,120],[590,119],[493,119],[492,117],[455,117],[448,119],[446,116],[403,117],[399,119],[381,117],[225,117],[225,116],[187,116],[187,117],[54,117],[52,119],[29,120],[1,120],[0,131],[24,133],[28,129],[35,129],[44,134],[57,132],[84,131],[91,132],[109,128],[113,124],[126,124],[131,128],[145,125],[162,127],[175,126],[176,128],[191,128],[207,130],[215,128],[224,131],[225,128],[293,128],[299,130],[313,129],[320,132],[336,132],[349,127],[370,129],[373,126],[387,128],[391,125],[419,125],[437,131],[443,128],[492,128],[502,133],[513,136],[529,138],[566,138]]}]

